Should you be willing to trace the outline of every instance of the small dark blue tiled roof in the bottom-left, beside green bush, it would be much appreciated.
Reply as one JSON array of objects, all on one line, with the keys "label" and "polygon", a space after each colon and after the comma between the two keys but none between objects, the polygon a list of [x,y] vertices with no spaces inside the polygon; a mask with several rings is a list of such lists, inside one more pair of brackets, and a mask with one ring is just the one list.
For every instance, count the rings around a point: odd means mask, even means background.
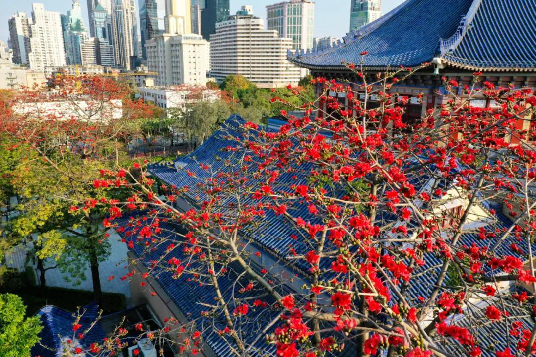
[{"label": "small dark blue tiled roof in the bottom-left, beside green bush", "polygon": [[[86,329],[95,322],[98,316],[98,306],[95,304],[88,305],[81,309],[80,312],[86,312],[80,319],[82,327],[77,331],[85,333]],[[76,338],[73,333],[72,326],[75,323],[75,314],[67,312],[55,306],[45,306],[37,314],[41,317],[43,329],[39,333],[41,344],[36,344],[32,348],[32,356],[40,355],[41,357],[59,357],[62,351],[62,340]],[[102,341],[106,336],[100,323],[96,323],[93,328],[85,333],[84,339],[76,339],[85,349],[90,347],[90,344],[95,341]],[[48,347],[48,348],[47,348]]]}]

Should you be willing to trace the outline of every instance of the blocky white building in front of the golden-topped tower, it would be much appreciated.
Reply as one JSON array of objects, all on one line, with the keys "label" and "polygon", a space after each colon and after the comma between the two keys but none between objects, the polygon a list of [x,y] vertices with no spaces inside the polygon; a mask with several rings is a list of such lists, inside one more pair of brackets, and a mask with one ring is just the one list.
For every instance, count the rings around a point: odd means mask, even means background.
[{"label": "blocky white building in front of the golden-topped tower", "polygon": [[157,86],[206,85],[209,42],[196,34],[163,34],[146,43],[147,67]]}]

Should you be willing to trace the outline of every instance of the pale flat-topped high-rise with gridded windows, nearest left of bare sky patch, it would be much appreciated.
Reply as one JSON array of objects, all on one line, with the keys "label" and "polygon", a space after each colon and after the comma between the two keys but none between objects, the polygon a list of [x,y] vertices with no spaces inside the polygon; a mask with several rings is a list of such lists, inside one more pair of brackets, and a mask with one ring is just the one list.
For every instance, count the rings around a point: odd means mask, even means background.
[{"label": "pale flat-topped high-rise with gridded windows, nearest left of bare sky patch", "polygon": [[266,28],[277,30],[280,37],[291,37],[293,49],[312,47],[315,3],[291,0],[266,6]]}]

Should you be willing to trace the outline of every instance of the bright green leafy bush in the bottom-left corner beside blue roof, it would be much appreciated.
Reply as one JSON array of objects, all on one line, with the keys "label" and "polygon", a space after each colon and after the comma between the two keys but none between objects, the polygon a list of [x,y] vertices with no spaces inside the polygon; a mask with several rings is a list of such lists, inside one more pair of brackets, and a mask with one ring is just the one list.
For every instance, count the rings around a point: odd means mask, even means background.
[{"label": "bright green leafy bush in the bottom-left corner beside blue roof", "polygon": [[0,356],[27,357],[39,342],[39,316],[25,318],[26,306],[15,294],[0,294]]}]

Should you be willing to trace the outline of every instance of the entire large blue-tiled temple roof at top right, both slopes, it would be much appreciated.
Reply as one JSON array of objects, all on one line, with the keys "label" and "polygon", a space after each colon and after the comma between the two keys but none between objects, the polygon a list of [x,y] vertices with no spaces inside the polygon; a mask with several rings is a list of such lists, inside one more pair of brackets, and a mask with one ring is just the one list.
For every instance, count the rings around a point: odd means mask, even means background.
[{"label": "entire large blue-tiled temple roof at top right, both slopes", "polygon": [[289,52],[297,66],[369,70],[444,63],[473,71],[536,70],[534,0],[407,0],[333,47]]}]

